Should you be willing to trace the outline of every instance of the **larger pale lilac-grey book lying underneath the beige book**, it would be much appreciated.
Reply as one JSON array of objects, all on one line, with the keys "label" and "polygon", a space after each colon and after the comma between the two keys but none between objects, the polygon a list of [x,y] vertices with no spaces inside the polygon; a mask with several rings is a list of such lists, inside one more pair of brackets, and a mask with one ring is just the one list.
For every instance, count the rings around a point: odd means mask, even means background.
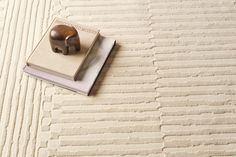
[{"label": "larger pale lilac-grey book lying underneath the beige book", "polygon": [[84,95],[89,95],[115,43],[116,41],[111,38],[100,36],[91,49],[89,56],[83,63],[76,81],[40,71],[27,65],[23,70],[32,76],[49,81],[52,84],[56,84]]}]

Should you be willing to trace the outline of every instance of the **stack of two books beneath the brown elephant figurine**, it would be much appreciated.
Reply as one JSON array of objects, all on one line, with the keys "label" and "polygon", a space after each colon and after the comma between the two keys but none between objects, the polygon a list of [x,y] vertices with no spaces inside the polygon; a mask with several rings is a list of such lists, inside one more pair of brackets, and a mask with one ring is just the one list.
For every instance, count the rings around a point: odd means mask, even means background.
[{"label": "stack of two books beneath the brown elephant figurine", "polygon": [[[52,51],[49,32],[61,24],[77,29],[81,45],[78,53],[63,55]],[[114,45],[115,40],[101,36],[96,29],[56,18],[27,59],[24,72],[89,95]]]}]

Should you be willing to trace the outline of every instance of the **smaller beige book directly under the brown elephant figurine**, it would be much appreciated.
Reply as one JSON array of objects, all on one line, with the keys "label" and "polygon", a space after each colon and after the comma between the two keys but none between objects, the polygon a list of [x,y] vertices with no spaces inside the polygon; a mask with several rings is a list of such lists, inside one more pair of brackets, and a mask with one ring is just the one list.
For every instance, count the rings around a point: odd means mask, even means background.
[{"label": "smaller beige book directly under the brown elephant figurine", "polygon": [[[62,53],[52,51],[49,42],[49,32],[56,25],[68,25],[76,28],[80,38],[79,52],[63,55]],[[33,53],[29,56],[26,64],[47,73],[76,80],[81,65],[88,56],[98,36],[99,30],[55,18]]]}]

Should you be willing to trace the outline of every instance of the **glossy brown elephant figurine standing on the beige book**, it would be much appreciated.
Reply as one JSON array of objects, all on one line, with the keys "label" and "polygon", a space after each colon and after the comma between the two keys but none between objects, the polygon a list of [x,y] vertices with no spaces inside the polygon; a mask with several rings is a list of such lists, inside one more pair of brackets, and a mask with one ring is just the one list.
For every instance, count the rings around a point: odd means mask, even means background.
[{"label": "glossy brown elephant figurine standing on the beige book", "polygon": [[52,50],[56,53],[68,55],[80,50],[79,34],[73,26],[54,26],[49,33],[49,40]]}]

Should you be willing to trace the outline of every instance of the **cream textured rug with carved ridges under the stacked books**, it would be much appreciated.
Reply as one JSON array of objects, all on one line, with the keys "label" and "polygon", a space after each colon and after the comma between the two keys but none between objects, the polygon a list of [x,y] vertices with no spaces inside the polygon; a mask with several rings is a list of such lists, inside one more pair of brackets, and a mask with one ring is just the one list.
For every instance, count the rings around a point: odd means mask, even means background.
[{"label": "cream textured rug with carved ridges under the stacked books", "polygon": [[[93,95],[22,68],[51,20],[118,46]],[[1,157],[236,156],[233,0],[0,0]]]}]

